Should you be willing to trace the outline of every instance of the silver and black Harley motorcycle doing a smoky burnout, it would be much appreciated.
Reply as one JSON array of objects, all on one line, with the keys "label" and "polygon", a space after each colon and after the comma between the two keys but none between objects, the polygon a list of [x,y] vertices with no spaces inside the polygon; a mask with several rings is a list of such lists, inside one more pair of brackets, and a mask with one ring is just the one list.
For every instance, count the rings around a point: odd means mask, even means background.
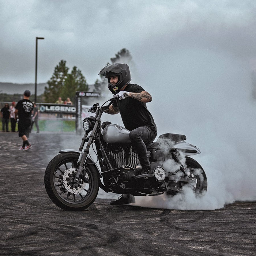
[{"label": "silver and black Harley motorcycle doing a smoky burnout", "polygon": [[[52,202],[63,210],[84,210],[93,204],[99,188],[133,196],[174,196],[189,186],[196,195],[204,194],[206,174],[189,157],[201,152],[185,142],[185,135],[165,133],[147,144],[151,171],[140,173],[139,157],[131,146],[129,131],[110,122],[101,124],[102,114],[115,100],[117,97],[102,106],[94,104],[95,116],[83,120],[85,133],[79,149],[61,150],[49,162],[44,182]],[[97,155],[99,167],[90,155],[91,150]]]}]

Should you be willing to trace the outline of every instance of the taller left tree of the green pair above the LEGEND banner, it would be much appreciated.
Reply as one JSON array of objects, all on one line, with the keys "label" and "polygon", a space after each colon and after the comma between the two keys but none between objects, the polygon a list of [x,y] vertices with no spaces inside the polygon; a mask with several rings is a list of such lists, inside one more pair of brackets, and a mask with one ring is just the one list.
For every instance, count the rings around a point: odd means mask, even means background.
[{"label": "taller left tree of the green pair above the LEGEND banner", "polygon": [[54,73],[50,80],[47,82],[48,87],[45,87],[44,97],[45,102],[54,103],[61,97],[64,82],[67,79],[68,67],[66,67],[66,61],[61,60],[59,65],[54,68]]}]

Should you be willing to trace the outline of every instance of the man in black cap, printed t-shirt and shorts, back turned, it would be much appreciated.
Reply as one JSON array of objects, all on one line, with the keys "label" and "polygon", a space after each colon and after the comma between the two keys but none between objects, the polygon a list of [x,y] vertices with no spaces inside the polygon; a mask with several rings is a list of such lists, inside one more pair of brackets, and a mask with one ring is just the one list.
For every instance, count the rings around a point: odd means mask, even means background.
[{"label": "man in black cap, printed t-shirt and shorts, back turned", "polygon": [[29,129],[31,125],[31,112],[33,110],[33,102],[29,99],[30,94],[30,91],[26,90],[24,92],[24,98],[18,101],[15,107],[15,118],[17,119],[17,116],[19,116],[19,137],[21,137],[23,140],[23,145],[19,148],[19,150],[28,150],[32,147],[28,141]]}]

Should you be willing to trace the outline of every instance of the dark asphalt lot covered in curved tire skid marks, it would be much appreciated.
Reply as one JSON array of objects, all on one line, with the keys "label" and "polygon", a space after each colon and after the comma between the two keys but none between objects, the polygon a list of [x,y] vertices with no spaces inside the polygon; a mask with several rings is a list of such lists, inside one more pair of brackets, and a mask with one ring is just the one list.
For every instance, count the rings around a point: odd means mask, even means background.
[{"label": "dark asphalt lot covered in curved tire skid marks", "polygon": [[[18,151],[17,133],[0,132],[0,255],[255,255],[256,202],[223,209],[166,210],[110,206],[57,208],[44,188],[44,170],[74,135],[31,134]],[[78,148],[76,146],[75,148]]]}]

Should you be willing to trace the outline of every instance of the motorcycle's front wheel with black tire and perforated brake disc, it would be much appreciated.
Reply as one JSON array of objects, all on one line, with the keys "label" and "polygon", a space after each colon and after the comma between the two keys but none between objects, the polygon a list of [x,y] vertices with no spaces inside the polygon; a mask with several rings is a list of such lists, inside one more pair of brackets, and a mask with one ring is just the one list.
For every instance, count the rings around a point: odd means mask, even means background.
[{"label": "motorcycle's front wheel with black tire and perforated brake disc", "polygon": [[45,189],[54,204],[63,210],[80,211],[98,195],[99,181],[94,165],[86,165],[78,181],[79,153],[67,152],[54,157],[45,170]]}]

